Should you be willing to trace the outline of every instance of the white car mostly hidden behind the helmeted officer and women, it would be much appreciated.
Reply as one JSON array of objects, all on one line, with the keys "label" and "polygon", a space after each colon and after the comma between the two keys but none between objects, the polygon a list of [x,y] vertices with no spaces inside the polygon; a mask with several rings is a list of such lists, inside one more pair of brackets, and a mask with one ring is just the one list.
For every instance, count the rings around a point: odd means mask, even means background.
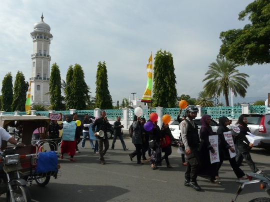
[{"label": "white car mostly hidden behind the helmeted officer and women", "polygon": [[[200,118],[201,117],[193,119],[193,122],[198,126],[198,133],[199,133],[199,130],[200,130],[200,127],[201,127]],[[218,123],[216,123],[213,119],[211,119],[210,126],[211,126],[213,132],[216,134],[216,131],[217,131],[218,126],[219,126]],[[179,137],[180,137],[180,134],[181,134],[181,131],[179,129],[179,122],[177,120],[174,120],[169,125],[169,129],[171,131],[172,136],[175,138],[175,140],[179,142],[179,139],[180,139]],[[171,144],[175,145],[176,143],[172,142]]]}]

